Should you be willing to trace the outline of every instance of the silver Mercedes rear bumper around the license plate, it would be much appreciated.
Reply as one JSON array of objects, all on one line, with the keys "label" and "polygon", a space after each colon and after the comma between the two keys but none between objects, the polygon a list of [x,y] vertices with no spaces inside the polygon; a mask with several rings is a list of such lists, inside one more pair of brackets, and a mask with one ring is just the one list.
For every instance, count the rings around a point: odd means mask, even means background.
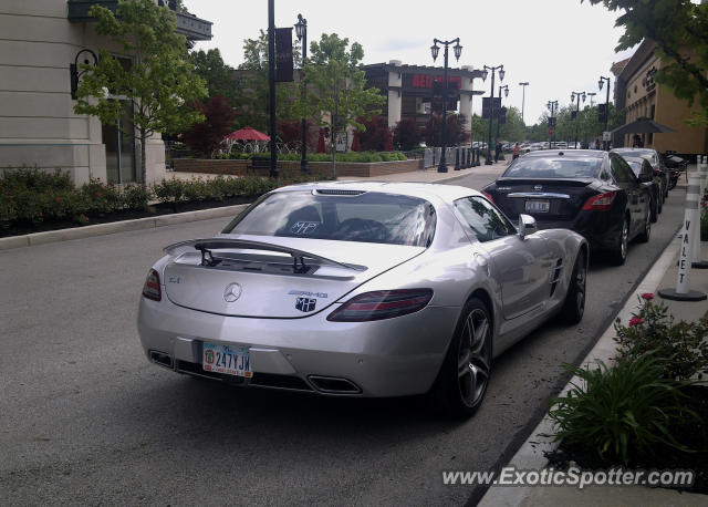
[{"label": "silver Mercedes rear bumper around the license plate", "polygon": [[[430,389],[459,311],[427,307],[375,322],[329,322],[331,311],[302,319],[248,319],[140,298],[137,325],[148,359],[180,373],[320,394],[383,397]],[[247,346],[253,379],[204,372],[205,341]],[[337,387],[347,383],[354,387]]]}]

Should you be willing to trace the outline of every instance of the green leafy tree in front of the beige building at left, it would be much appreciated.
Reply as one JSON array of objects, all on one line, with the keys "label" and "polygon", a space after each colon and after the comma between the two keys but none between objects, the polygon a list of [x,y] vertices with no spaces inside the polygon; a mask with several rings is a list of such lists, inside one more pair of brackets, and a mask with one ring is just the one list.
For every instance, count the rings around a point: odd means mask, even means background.
[{"label": "green leafy tree in front of the beige building at left", "polygon": [[96,4],[90,14],[97,20],[96,33],[117,43],[131,61],[101,50],[95,66],[82,65],[86,73],[74,112],[115,124],[123,113],[123,101],[129,101],[135,128],[126,134],[140,142],[140,174],[146,182],[147,138],[155,133],[181,132],[204,120],[188,104],[206,95],[205,83],[194,73],[185,38],[175,32],[177,21],[171,10],[153,0],[119,0],[115,13]]}]

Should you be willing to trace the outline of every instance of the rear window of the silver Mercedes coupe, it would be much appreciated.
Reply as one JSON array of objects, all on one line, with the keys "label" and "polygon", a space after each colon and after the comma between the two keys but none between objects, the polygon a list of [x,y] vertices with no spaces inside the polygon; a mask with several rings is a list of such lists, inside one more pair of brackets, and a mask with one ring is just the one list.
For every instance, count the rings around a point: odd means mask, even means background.
[{"label": "rear window of the silver Mercedes coupe", "polygon": [[417,197],[303,190],[267,196],[222,232],[427,247],[435,226],[435,208]]}]

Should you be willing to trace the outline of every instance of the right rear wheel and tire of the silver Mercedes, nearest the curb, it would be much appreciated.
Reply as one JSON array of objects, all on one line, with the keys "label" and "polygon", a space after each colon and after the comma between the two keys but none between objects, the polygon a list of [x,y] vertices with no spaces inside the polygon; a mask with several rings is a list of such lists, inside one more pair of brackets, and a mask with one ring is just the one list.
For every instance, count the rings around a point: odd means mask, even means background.
[{"label": "right rear wheel and tire of the silver Mercedes, nearest the curb", "polygon": [[460,314],[438,377],[430,391],[447,417],[471,417],[482,403],[491,373],[493,323],[489,310],[471,298]]}]

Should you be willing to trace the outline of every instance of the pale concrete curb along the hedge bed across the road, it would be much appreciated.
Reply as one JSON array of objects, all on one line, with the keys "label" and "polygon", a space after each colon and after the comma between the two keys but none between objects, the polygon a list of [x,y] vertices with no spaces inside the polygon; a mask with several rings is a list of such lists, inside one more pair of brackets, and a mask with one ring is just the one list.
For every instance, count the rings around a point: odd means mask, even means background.
[{"label": "pale concrete curb along the hedge bed across the road", "polygon": [[198,211],[176,213],[171,215],[160,215],[157,217],[137,218],[134,220],[96,224],[94,226],[32,232],[24,236],[10,236],[8,238],[0,238],[0,250],[31,247],[34,245],[46,245],[50,242],[66,241],[70,239],[91,238],[94,236],[126,232],[131,230],[154,229],[175,224],[208,220],[210,218],[229,217],[242,211],[247,206],[249,205],[239,204],[233,206],[223,206],[220,208],[200,209]]}]

